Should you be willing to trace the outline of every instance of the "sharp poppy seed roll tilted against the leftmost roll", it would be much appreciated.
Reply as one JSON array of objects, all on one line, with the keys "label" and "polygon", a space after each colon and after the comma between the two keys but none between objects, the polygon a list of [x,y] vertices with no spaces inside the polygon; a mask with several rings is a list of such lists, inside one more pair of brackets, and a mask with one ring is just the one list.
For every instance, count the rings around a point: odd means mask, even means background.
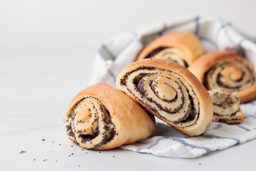
[{"label": "sharp poppy seed roll tilted against the leftmost roll", "polygon": [[116,81],[143,108],[186,135],[200,135],[213,118],[206,88],[183,66],[144,59],[125,67]]}]

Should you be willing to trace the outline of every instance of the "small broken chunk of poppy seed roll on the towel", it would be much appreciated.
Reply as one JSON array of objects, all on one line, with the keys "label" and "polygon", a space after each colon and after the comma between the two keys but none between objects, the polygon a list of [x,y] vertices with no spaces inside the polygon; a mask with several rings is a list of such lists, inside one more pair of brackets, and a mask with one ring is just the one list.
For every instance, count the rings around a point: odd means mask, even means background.
[{"label": "small broken chunk of poppy seed roll on the towel", "polygon": [[237,92],[230,93],[221,89],[208,90],[213,100],[213,122],[240,124],[244,115],[240,108]]}]

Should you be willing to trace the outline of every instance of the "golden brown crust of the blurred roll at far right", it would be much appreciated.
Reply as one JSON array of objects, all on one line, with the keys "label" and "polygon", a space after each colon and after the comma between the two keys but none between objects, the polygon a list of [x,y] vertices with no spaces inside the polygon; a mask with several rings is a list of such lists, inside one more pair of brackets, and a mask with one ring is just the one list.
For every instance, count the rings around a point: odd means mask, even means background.
[{"label": "golden brown crust of the blurred roll at far right", "polygon": [[[210,53],[206,53],[205,55],[198,58],[193,62],[191,66],[188,67],[188,70],[193,73],[201,83],[203,83],[203,78],[205,73],[216,63],[221,63],[225,61],[234,61],[234,60],[242,61],[245,65],[250,68],[253,72],[253,76],[256,76],[255,68],[250,64],[245,58],[242,56],[238,56],[235,53],[229,51],[212,51]],[[234,72],[235,73],[235,72]],[[254,83],[250,88],[245,90],[240,90],[238,92],[238,96],[240,98],[241,103],[246,103],[250,100],[255,100],[256,98],[256,83]]]}]

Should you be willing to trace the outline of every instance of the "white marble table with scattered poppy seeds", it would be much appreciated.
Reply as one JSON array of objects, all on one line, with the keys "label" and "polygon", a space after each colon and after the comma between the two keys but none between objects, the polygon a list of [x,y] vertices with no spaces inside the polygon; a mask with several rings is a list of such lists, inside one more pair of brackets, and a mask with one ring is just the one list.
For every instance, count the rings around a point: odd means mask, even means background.
[{"label": "white marble table with scattered poppy seeds", "polygon": [[256,140],[195,159],[83,150],[73,144],[65,135],[63,115],[87,86],[92,58],[1,56],[0,170],[253,170]]}]

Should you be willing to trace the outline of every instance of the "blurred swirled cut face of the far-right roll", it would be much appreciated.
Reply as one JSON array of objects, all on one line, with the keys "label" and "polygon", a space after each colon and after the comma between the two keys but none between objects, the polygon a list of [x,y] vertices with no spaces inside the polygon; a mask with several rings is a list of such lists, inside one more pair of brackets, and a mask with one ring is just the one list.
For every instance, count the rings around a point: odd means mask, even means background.
[{"label": "blurred swirled cut face of the far-right roll", "polygon": [[255,83],[255,76],[249,66],[236,59],[220,61],[203,76],[203,85],[208,90],[221,88],[229,92],[245,90]]}]

